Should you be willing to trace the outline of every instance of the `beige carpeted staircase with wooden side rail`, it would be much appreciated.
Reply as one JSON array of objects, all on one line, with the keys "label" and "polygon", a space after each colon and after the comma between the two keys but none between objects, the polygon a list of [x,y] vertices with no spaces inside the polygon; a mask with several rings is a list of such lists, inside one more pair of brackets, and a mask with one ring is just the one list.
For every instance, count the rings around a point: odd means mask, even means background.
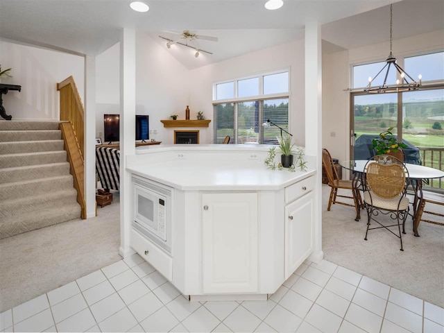
[{"label": "beige carpeted staircase with wooden side rail", "polygon": [[0,121],[0,239],[80,218],[58,121]]}]

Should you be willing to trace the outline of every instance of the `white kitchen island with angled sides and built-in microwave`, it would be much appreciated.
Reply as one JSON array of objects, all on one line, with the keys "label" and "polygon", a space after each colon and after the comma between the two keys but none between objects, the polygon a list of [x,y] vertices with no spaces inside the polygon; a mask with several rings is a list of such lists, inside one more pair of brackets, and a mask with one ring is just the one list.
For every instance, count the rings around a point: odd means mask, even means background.
[{"label": "white kitchen island with angled sides and built-in microwave", "polygon": [[[189,299],[265,300],[313,253],[316,170],[269,170],[268,148],[160,145],[128,156],[130,246]],[[157,201],[158,212],[146,209]],[[140,216],[153,211],[158,230]]]}]

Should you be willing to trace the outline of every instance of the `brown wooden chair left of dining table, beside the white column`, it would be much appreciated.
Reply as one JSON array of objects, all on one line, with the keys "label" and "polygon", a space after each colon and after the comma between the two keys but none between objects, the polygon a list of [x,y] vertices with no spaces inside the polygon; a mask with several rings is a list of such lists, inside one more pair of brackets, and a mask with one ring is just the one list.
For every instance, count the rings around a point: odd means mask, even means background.
[{"label": "brown wooden chair left of dining table, beside the white column", "polygon": [[[360,182],[357,182],[357,184],[353,186],[352,180],[339,179],[338,173],[336,172],[336,169],[334,168],[333,165],[332,156],[330,155],[329,151],[327,151],[327,149],[325,148],[323,148],[322,150],[322,162],[324,165],[325,173],[327,174],[328,186],[332,188],[330,191],[330,198],[328,200],[327,210],[330,211],[330,207],[332,207],[332,204],[335,203],[355,207],[356,216],[357,216],[355,220],[359,221],[359,219],[361,218],[360,209],[361,206],[363,205],[361,194],[359,193],[358,189],[358,187],[360,186]],[[352,191],[352,196],[339,195],[338,189],[348,189]],[[338,197],[353,199],[354,205],[338,201],[337,200]]]}]

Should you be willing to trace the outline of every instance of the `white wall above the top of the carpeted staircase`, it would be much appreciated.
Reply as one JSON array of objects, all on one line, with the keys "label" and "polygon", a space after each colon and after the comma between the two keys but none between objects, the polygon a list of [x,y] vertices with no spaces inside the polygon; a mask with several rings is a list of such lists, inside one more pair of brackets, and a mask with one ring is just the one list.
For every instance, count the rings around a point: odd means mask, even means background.
[{"label": "white wall above the top of the carpeted staircase", "polygon": [[2,83],[21,85],[22,91],[3,95],[3,106],[12,120],[58,120],[57,83],[73,76],[84,101],[85,60],[59,51],[40,49],[0,40],[2,69],[12,68]]}]

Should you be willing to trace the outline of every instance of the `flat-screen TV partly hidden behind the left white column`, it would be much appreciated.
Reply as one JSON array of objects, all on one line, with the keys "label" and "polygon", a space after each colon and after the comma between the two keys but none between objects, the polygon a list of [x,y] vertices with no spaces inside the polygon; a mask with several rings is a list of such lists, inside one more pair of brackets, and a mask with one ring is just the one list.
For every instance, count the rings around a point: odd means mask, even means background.
[{"label": "flat-screen TV partly hidden behind the left white column", "polygon": [[[149,137],[149,117],[148,114],[136,115],[135,139],[148,140]],[[119,114],[103,114],[104,142],[112,143],[119,140]]]}]

